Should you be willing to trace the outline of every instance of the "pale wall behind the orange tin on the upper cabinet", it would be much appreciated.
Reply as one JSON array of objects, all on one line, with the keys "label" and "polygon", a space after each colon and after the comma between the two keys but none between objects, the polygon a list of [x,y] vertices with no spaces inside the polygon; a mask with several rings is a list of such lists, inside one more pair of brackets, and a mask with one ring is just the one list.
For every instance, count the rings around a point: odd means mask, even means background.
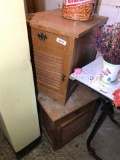
[{"label": "pale wall behind the orange tin on the upper cabinet", "polygon": [[[63,0],[39,0],[40,11],[62,8]],[[120,22],[120,0],[99,0],[97,13],[108,16],[108,23]]]}]

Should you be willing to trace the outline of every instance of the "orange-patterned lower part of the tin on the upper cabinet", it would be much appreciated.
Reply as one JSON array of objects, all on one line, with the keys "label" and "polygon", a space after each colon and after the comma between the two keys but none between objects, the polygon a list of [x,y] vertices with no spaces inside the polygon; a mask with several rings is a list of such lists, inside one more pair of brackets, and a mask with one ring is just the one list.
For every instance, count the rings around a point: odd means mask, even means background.
[{"label": "orange-patterned lower part of the tin on the upper cabinet", "polygon": [[71,20],[88,21],[93,19],[94,3],[81,6],[66,7],[63,3],[62,16]]}]

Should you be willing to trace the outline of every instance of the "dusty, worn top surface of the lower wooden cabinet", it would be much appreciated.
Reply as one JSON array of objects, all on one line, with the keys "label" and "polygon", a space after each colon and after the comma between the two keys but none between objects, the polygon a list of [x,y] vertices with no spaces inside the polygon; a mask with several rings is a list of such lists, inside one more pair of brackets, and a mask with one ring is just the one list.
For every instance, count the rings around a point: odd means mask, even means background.
[{"label": "dusty, worn top surface of the lower wooden cabinet", "polygon": [[48,97],[42,92],[39,92],[38,101],[40,102],[41,107],[49,115],[51,120],[55,122],[78,109],[85,109],[84,107],[87,108],[87,105],[96,101],[98,97],[99,96],[97,94],[80,85],[77,87],[65,105],[61,105],[59,102],[51,97]]}]

